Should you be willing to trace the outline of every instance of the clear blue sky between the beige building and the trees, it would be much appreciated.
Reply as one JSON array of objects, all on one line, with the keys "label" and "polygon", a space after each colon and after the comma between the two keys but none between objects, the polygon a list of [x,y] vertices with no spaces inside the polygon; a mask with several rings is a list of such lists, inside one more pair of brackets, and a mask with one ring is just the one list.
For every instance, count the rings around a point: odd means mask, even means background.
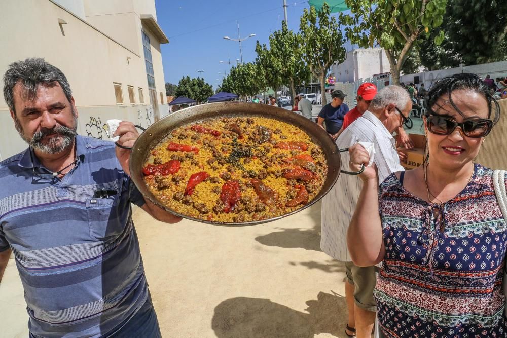
[{"label": "clear blue sky between the beige building and the trees", "polygon": [[[268,44],[269,35],[281,28],[284,18],[283,0],[250,1],[202,1],[202,0],[155,0],[157,21],[170,43],[161,46],[165,82],[177,84],[183,76],[199,76],[204,70],[204,80],[216,88],[222,74],[229,72],[231,62],[240,58],[239,44],[224,40],[223,36],[238,37],[251,33],[256,36],[242,42],[243,62],[251,62],[257,56],[255,45]],[[303,9],[307,1],[287,0],[289,29],[299,30]],[[216,79],[219,79],[218,81]]]}]

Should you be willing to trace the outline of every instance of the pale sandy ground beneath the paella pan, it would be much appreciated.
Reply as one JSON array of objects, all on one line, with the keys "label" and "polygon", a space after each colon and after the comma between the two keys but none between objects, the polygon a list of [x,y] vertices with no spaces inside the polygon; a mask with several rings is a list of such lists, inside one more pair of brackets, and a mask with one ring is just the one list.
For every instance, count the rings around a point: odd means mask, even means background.
[{"label": "pale sandy ground beneath the paella pan", "polygon": [[[169,225],[141,209],[134,222],[164,337],[346,337],[345,272],[319,249],[320,203],[251,227]],[[26,337],[13,259],[0,307],[0,337]]]}]

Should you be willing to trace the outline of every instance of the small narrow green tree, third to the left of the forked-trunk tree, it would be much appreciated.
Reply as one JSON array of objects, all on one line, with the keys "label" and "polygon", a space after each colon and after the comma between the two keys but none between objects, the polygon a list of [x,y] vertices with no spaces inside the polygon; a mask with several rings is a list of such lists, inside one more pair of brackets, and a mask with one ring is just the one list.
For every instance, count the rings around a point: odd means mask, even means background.
[{"label": "small narrow green tree, third to the left of the forked-trunk tree", "polygon": [[273,52],[266,47],[266,44],[261,45],[259,41],[257,41],[255,50],[257,52],[256,63],[259,65],[258,76],[264,78],[266,87],[273,88],[275,91],[275,98],[277,98],[278,88],[283,84],[283,79],[280,75],[282,72],[282,65],[276,59]]}]

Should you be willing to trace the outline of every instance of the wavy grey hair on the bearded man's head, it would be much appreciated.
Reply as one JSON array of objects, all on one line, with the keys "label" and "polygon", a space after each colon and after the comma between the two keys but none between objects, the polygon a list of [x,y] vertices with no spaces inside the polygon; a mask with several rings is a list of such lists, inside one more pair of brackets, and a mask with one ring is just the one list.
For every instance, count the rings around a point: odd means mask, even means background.
[{"label": "wavy grey hair on the bearded man's head", "polygon": [[4,99],[9,109],[14,110],[14,86],[20,83],[28,99],[37,97],[37,89],[41,84],[50,85],[57,81],[70,102],[72,91],[63,72],[44,61],[43,58],[29,58],[13,62],[4,74]]}]

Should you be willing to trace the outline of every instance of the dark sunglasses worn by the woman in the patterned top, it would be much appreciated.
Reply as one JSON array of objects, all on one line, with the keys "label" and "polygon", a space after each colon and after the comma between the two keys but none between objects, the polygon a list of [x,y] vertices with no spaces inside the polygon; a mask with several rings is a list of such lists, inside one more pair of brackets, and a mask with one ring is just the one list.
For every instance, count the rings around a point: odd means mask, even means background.
[{"label": "dark sunglasses worn by the woman in the patterned top", "polygon": [[456,122],[452,118],[442,115],[427,115],[428,130],[437,135],[449,135],[456,127],[460,127],[468,137],[479,138],[489,134],[493,127],[493,121],[487,119],[466,120],[464,122]]}]

